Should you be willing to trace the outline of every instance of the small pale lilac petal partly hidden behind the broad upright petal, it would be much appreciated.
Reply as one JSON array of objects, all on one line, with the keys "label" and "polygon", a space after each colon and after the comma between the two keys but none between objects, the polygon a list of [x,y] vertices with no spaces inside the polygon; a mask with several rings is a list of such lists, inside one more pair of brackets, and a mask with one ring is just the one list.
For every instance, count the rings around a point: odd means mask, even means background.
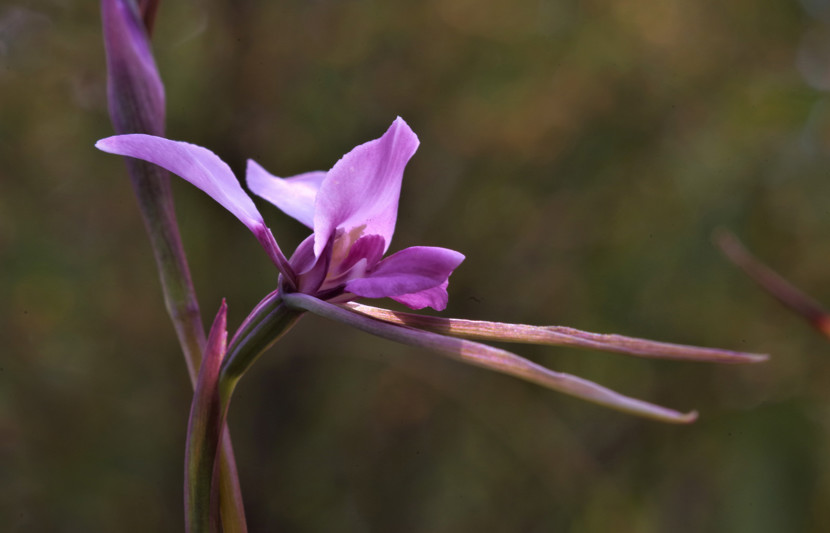
[{"label": "small pale lilac petal partly hidden behind the broad upright petal", "polygon": [[314,228],[314,200],[326,172],[306,172],[290,178],[279,178],[262,168],[256,161],[248,160],[245,181],[251,191],[268,200],[283,213]]}]

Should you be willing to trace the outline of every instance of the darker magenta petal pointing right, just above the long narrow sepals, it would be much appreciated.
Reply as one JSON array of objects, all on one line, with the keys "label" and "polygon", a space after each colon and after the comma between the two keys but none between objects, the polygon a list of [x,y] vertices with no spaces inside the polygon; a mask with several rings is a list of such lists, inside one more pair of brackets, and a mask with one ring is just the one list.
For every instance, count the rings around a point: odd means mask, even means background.
[{"label": "darker magenta petal pointing right, just above the long narrow sepals", "polygon": [[346,290],[365,298],[421,292],[447,281],[464,255],[447,248],[413,246],[390,255],[365,277],[346,283]]}]

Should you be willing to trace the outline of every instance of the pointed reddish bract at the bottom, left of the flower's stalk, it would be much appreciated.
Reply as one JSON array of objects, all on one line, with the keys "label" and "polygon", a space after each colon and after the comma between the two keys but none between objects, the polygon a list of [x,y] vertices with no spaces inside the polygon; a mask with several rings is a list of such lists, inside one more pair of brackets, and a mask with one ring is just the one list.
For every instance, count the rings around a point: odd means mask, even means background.
[{"label": "pointed reddish bract at the bottom, left of the flower's stalk", "polygon": [[218,385],[228,340],[227,311],[223,300],[210,330],[190,407],[184,477],[185,526],[188,533],[219,531],[219,486],[214,483],[214,470],[224,427],[224,409]]}]

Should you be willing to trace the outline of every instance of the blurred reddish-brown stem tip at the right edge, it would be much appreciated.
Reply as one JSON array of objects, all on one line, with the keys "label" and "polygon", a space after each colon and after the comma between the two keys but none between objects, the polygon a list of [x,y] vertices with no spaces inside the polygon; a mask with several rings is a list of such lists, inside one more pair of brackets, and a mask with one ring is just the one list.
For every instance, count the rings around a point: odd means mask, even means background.
[{"label": "blurred reddish-brown stem tip at the right edge", "polygon": [[726,258],[743,270],[758,286],[804,318],[822,335],[830,338],[830,312],[821,304],[752,255],[733,233],[719,230],[713,238]]}]

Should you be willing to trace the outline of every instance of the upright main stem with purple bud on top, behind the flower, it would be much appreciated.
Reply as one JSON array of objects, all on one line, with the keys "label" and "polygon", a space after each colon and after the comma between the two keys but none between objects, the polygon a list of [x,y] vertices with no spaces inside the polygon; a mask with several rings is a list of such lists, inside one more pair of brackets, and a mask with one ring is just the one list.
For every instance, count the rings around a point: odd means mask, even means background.
[{"label": "upright main stem with purple bud on top, behind the flower", "polygon": [[[132,0],[101,1],[109,111],[119,134],[164,135],[164,86],[149,39],[157,7],[158,0],[143,0],[138,5]],[[170,176],[143,161],[127,159],[126,163],[156,258],[167,311],[195,385],[205,332],[176,223]],[[222,520],[226,532],[244,532],[247,528],[233,450],[228,432],[224,435]]]}]

